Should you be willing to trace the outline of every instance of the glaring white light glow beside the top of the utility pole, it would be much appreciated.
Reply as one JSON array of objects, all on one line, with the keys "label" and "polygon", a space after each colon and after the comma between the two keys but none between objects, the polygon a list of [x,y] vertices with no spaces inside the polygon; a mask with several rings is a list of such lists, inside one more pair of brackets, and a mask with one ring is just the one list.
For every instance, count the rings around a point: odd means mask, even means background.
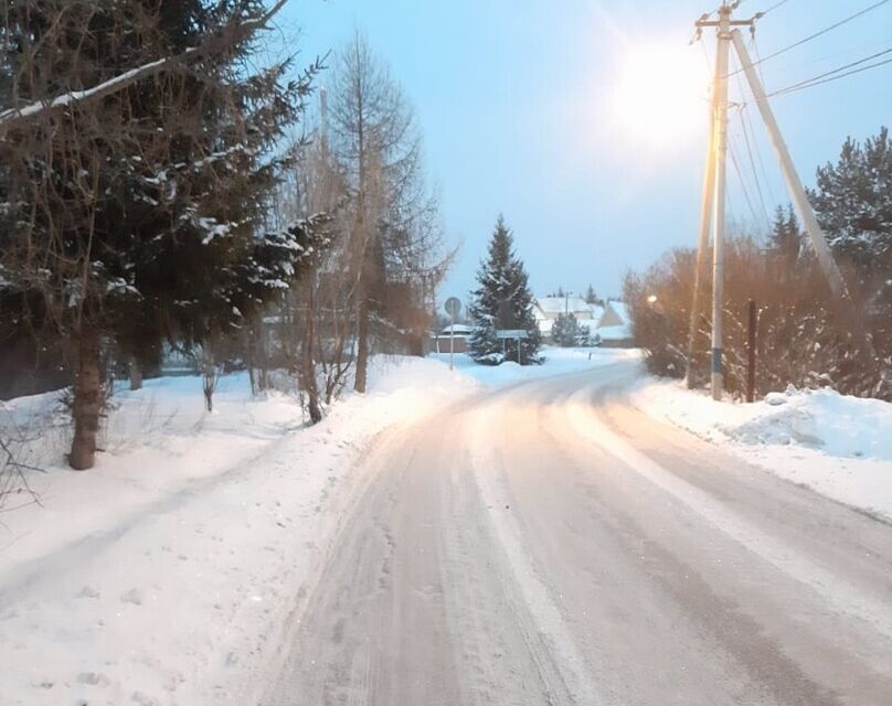
[{"label": "glaring white light glow beside the top of the utility pole", "polygon": [[703,135],[708,72],[691,49],[629,47],[613,76],[609,120],[624,140],[669,151]]}]

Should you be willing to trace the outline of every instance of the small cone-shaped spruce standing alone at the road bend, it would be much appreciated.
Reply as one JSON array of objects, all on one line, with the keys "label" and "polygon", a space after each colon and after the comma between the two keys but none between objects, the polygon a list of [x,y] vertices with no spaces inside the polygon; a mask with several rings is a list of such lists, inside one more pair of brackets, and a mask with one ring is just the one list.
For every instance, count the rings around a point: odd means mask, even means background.
[{"label": "small cone-shaped spruce standing alone at the road bend", "polygon": [[[533,295],[523,263],[514,254],[511,232],[501,215],[477,280],[479,287],[471,292],[468,307],[474,324],[469,340],[471,357],[487,365],[498,365],[503,361],[521,365],[540,363],[541,335],[533,315]],[[506,344],[496,336],[497,331],[505,329],[527,331],[529,338],[520,343],[520,356],[517,341]]]}]

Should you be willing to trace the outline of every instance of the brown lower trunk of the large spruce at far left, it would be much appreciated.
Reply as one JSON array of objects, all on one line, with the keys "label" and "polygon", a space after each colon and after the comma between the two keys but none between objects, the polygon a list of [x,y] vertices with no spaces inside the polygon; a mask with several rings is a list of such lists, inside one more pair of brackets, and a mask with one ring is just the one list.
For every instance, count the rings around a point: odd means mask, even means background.
[{"label": "brown lower trunk of the large spruce at far left", "polygon": [[102,375],[99,374],[99,335],[84,324],[77,338],[77,376],[74,381],[74,439],[68,464],[85,471],[96,462],[96,435],[99,431]]}]

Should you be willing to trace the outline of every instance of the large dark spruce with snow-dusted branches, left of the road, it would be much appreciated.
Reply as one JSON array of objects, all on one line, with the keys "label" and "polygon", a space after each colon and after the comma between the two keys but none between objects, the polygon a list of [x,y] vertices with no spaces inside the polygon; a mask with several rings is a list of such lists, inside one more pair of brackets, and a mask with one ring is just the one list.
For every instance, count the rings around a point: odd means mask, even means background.
[{"label": "large dark spruce with snow-dusted branches, left of the road", "polygon": [[[39,292],[75,361],[70,463],[94,463],[99,350],[156,357],[236,330],[287,288],[316,245],[312,222],[267,234],[272,148],[302,110],[312,71],[257,68],[237,28],[261,0],[23,0],[7,9],[4,96],[17,105],[201,52],[102,100],[74,100],[9,128],[0,143],[8,288]],[[14,107],[14,106],[13,106]]]}]

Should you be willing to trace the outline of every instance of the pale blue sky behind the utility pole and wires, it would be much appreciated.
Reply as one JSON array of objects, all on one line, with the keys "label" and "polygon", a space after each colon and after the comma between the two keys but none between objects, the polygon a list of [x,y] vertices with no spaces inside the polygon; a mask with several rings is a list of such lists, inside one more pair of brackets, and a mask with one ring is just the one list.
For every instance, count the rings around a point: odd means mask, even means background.
[{"label": "pale blue sky behind the utility pole and wires", "polygon": [[[745,0],[739,15],[774,1]],[[291,0],[278,36],[309,60],[337,50],[359,29],[390,64],[418,115],[448,236],[461,242],[444,299],[465,299],[474,286],[499,212],[513,228],[537,293],[592,282],[613,295],[627,268],[695,244],[704,86],[715,39],[705,33],[704,46],[688,42],[693,20],[715,4]],[[788,0],[760,22],[761,55],[869,4]],[[892,2],[765,62],[764,81],[769,90],[781,88],[891,46]],[[643,69],[650,65],[657,65],[652,74]],[[742,95],[736,81],[732,100]],[[848,135],[861,139],[892,122],[892,65],[777,97],[773,106],[811,183],[815,168],[833,159]],[[755,107],[746,111],[755,171],[772,210],[787,197]],[[746,194],[731,169],[731,215],[764,228],[742,118],[732,114]]]}]

